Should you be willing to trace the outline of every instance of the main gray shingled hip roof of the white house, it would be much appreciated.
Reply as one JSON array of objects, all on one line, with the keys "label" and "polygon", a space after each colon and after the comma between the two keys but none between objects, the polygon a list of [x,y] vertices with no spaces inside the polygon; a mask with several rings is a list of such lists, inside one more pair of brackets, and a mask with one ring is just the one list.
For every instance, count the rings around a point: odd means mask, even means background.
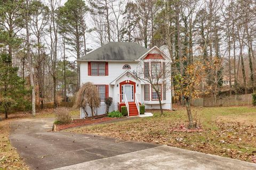
[{"label": "main gray shingled hip roof of the white house", "polygon": [[93,52],[79,58],[77,61],[113,60],[113,61],[134,61],[148,52],[149,49],[136,43],[111,42]]}]

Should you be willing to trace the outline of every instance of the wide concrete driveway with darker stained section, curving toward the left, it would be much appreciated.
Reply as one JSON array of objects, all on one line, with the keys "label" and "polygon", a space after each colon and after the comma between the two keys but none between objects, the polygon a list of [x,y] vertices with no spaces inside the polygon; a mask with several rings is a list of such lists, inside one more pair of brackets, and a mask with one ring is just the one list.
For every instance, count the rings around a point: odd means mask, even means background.
[{"label": "wide concrete driveway with darker stained section, curving toward the left", "polygon": [[32,169],[256,169],[256,164],[168,146],[51,132],[53,121],[11,123],[11,144]]}]

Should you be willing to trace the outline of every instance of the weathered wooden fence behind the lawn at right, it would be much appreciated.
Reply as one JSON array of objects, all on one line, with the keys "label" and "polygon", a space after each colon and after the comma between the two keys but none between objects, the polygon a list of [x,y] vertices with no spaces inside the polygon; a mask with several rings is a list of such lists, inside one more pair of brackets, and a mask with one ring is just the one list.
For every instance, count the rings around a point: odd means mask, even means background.
[{"label": "weathered wooden fence behind the lawn at right", "polygon": [[248,106],[252,105],[252,94],[198,98],[191,101],[195,107]]}]

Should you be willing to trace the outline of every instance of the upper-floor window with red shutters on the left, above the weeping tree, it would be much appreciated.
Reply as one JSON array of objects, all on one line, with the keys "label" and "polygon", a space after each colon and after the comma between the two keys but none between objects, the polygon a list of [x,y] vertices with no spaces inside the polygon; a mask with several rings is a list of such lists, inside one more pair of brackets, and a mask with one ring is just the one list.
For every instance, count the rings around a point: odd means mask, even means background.
[{"label": "upper-floor window with red shutters on the left, above the weeping tree", "polygon": [[88,75],[108,75],[108,63],[88,62]]}]

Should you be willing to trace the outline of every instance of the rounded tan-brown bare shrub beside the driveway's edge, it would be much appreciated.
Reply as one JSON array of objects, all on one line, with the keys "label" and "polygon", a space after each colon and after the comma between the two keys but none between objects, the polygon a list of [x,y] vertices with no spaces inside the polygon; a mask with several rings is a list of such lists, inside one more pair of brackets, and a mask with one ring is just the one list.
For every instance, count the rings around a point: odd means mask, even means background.
[{"label": "rounded tan-brown bare shrub beside the driveway's edge", "polygon": [[69,114],[69,110],[66,107],[59,107],[54,110],[56,114],[55,124],[68,124],[71,123],[72,118]]}]

